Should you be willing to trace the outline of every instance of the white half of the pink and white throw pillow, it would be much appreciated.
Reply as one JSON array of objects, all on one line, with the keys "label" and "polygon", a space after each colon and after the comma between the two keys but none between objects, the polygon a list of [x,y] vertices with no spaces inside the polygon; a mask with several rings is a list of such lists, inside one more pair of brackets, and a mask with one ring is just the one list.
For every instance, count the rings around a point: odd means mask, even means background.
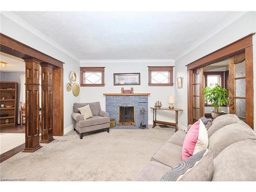
[{"label": "white half of the pink and white throw pillow", "polygon": [[194,149],[193,155],[202,150],[205,150],[208,147],[208,133],[205,128],[205,125],[201,119],[199,119],[199,132],[198,132],[198,139]]}]

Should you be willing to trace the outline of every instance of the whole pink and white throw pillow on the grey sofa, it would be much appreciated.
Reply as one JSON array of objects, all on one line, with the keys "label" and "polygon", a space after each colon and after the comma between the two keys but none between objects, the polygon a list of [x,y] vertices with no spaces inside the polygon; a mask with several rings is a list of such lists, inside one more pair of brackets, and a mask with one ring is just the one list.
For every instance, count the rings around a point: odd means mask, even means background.
[{"label": "whole pink and white throw pillow on the grey sofa", "polygon": [[202,120],[195,122],[186,134],[182,146],[181,160],[205,150],[208,147],[208,134]]}]

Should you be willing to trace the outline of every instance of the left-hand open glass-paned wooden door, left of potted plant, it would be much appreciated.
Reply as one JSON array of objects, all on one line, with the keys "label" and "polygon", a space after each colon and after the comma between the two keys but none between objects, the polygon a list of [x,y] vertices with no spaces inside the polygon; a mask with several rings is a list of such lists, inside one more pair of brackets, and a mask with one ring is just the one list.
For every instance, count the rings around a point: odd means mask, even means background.
[{"label": "left-hand open glass-paned wooden door, left of potted plant", "polygon": [[203,68],[193,70],[193,122],[204,116]]}]

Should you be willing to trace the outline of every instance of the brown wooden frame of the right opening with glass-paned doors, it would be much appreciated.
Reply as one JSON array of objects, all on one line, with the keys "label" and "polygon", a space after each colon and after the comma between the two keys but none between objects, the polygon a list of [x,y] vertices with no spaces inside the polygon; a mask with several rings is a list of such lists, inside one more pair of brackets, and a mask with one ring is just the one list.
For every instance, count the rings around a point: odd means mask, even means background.
[{"label": "brown wooden frame of the right opening with glass-paned doors", "polygon": [[[253,129],[253,71],[252,68],[252,36],[255,33],[246,35],[231,44],[218,49],[212,53],[209,53],[193,62],[190,62],[187,67],[187,121],[188,124],[193,124],[193,70],[199,69],[212,63],[219,62],[229,58],[232,55],[236,55],[241,52],[245,52],[246,71],[249,76],[246,79],[246,93],[249,98],[246,99],[246,123]],[[249,66],[249,68],[247,67]],[[249,85],[249,86],[247,86]],[[252,87],[252,89],[251,89]],[[251,110],[252,109],[252,110]]]}]

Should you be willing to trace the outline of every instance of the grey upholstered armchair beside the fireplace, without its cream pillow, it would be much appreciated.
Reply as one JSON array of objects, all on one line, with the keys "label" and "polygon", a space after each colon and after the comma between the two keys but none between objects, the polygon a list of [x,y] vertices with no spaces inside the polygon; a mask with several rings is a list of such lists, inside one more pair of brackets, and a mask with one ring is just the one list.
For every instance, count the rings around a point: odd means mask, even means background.
[{"label": "grey upholstered armchair beside the fireplace, without its cream pillow", "polygon": [[[83,119],[78,108],[88,105],[92,111],[93,117],[88,119]],[[108,133],[110,131],[110,118],[109,113],[101,111],[99,102],[91,103],[74,103],[73,113],[71,114],[73,118],[74,131],[77,131],[82,139],[83,135],[86,133],[96,132],[98,130],[106,130]]]}]

